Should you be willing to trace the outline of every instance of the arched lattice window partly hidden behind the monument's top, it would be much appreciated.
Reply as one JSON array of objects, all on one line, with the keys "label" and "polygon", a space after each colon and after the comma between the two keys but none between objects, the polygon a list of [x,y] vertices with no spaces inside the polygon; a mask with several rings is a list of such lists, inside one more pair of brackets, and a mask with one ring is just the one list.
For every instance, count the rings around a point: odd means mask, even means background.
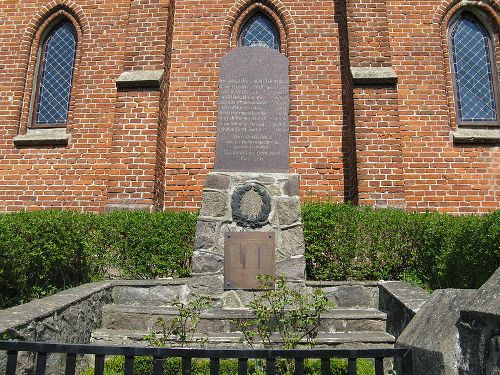
[{"label": "arched lattice window partly hidden behind the monument's top", "polygon": [[279,33],[274,23],[262,13],[253,15],[241,29],[240,46],[268,47],[279,50]]}]

